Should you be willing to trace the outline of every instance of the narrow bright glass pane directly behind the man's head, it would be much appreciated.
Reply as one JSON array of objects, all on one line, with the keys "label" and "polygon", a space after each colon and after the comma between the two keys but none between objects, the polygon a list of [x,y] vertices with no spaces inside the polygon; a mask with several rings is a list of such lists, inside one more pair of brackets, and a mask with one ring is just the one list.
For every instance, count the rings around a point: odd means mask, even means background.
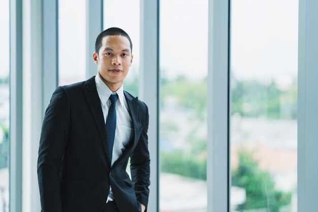
[{"label": "narrow bright glass pane directly behind the man's head", "polygon": [[[124,7],[123,7],[124,5]],[[140,61],[140,0],[104,0],[104,29],[119,27],[133,42],[133,64],[124,80],[124,90],[138,96]]]}]

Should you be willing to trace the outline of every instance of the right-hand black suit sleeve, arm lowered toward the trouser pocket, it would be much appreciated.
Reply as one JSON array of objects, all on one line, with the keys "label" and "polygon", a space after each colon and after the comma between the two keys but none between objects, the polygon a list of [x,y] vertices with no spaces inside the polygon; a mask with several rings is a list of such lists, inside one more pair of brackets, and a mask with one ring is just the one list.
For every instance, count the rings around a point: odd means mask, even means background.
[{"label": "right-hand black suit sleeve, arm lowered toward the trouser pocket", "polygon": [[148,151],[148,124],[149,124],[149,114],[146,104],[141,103],[140,108],[142,112],[139,111],[142,123],[142,132],[134,150],[134,153],[131,156],[131,174],[132,181],[134,183],[134,189],[136,192],[136,198],[139,202],[143,203],[146,206],[148,205],[149,197],[149,185],[150,185],[150,157]]}]

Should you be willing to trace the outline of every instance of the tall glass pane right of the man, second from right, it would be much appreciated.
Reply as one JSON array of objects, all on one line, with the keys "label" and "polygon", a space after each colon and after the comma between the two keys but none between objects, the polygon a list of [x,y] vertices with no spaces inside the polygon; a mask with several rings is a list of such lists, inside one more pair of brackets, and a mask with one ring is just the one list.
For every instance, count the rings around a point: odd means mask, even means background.
[{"label": "tall glass pane right of the man, second from right", "polygon": [[207,211],[208,1],[160,1],[160,211]]}]

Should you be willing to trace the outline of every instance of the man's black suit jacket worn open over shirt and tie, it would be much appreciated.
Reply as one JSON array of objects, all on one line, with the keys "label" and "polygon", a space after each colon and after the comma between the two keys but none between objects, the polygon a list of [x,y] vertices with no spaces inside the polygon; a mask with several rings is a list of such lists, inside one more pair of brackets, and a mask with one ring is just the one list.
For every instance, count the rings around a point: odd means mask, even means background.
[{"label": "man's black suit jacket worn open over shirt and tie", "polygon": [[[134,136],[110,167],[101,101],[94,77],[58,87],[42,126],[38,181],[43,212],[102,212],[112,186],[121,212],[147,206],[150,185],[148,108],[124,91]],[[126,173],[131,158],[132,180]]]}]

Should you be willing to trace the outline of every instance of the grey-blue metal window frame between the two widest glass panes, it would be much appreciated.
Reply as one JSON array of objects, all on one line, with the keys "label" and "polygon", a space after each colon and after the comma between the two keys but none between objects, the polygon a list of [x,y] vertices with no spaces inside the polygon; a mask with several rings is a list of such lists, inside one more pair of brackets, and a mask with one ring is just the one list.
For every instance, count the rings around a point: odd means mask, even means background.
[{"label": "grey-blue metal window frame between the two widest glass panes", "polygon": [[208,211],[229,211],[229,4],[209,1]]}]

